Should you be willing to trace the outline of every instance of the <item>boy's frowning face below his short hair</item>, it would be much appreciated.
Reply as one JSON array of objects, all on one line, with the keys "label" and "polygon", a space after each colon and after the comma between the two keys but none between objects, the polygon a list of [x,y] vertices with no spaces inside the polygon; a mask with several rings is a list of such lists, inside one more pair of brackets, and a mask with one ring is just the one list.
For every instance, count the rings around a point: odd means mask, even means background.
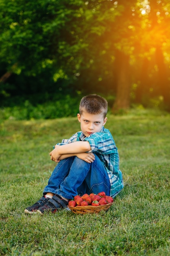
[{"label": "boy's frowning face below his short hair", "polygon": [[106,124],[107,117],[103,117],[103,114],[89,114],[83,111],[82,115],[77,114],[78,121],[80,122],[81,130],[86,137],[94,132],[100,132],[102,126]]}]

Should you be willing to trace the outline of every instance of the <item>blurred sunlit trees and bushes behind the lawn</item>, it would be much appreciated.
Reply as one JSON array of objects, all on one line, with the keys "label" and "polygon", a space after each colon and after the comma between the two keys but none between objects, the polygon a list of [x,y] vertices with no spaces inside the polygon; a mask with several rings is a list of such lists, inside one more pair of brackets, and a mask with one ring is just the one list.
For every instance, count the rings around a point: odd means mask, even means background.
[{"label": "blurred sunlit trees and bushes behind the lawn", "polygon": [[169,0],[0,0],[0,118],[170,112]]}]

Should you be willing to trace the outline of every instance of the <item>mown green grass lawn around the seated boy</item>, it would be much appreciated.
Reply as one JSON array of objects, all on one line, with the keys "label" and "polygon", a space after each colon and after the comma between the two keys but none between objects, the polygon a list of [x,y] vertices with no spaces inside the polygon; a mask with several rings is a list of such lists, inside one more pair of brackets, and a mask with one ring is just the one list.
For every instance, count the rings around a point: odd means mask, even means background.
[{"label": "mown green grass lawn around the seated boy", "polygon": [[28,216],[55,163],[53,144],[80,130],[76,118],[1,121],[0,255],[170,255],[170,115],[108,116],[124,189],[107,212]]}]

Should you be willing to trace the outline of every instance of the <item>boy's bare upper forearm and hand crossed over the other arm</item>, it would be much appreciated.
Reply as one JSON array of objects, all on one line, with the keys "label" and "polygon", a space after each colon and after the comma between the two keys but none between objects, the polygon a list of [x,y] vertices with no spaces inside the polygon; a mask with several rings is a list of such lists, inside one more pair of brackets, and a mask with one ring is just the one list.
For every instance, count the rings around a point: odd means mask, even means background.
[{"label": "boy's bare upper forearm and hand crossed over the other arm", "polygon": [[91,146],[88,141],[75,141],[69,144],[55,147],[50,152],[50,159],[59,162],[61,155],[74,156],[78,153],[85,153],[91,150]]}]

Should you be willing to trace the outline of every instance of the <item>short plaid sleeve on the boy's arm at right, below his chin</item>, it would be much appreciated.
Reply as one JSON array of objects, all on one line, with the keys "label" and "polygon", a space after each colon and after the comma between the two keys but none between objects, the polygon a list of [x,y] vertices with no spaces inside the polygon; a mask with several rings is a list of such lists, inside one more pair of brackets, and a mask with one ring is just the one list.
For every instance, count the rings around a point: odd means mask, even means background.
[{"label": "short plaid sleeve on the boy's arm at right, below his chin", "polygon": [[89,137],[86,137],[85,141],[88,141],[91,146],[91,150],[89,152],[106,155],[114,153],[116,149],[113,137],[109,132],[95,132]]}]

